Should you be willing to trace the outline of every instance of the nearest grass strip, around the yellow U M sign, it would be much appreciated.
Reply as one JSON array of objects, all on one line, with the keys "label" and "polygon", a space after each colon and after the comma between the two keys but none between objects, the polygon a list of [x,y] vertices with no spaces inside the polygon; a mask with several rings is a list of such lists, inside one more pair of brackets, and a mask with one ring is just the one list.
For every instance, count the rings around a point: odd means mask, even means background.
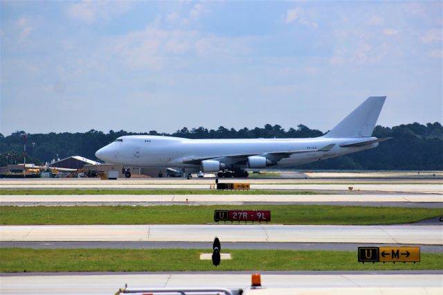
[{"label": "nearest grass strip, around the yellow U M sign", "polygon": [[1,272],[32,271],[247,271],[442,269],[443,254],[422,253],[417,263],[359,263],[356,251],[229,250],[218,267],[200,260],[212,249],[24,249],[0,251]]}]

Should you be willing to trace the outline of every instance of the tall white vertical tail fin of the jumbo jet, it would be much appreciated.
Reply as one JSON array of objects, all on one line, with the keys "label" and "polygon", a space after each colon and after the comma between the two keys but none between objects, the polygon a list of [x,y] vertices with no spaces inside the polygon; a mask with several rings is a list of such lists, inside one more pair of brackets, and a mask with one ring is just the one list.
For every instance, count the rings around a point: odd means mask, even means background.
[{"label": "tall white vertical tail fin of the jumbo jet", "polygon": [[341,120],[336,127],[325,134],[324,137],[370,137],[385,100],[386,96],[370,96],[359,107],[354,109],[351,114]]}]

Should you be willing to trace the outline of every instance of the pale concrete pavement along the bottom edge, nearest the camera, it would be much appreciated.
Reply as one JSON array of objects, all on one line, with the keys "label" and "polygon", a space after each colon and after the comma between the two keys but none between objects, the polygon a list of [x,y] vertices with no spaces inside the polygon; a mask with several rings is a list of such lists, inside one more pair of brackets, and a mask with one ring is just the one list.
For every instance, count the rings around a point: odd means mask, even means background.
[{"label": "pale concrete pavement along the bottom edge, nearest the camera", "polygon": [[[0,276],[2,295],[21,294],[114,294],[125,287],[228,287],[243,288],[244,294],[402,294],[440,295],[443,275],[424,271],[356,272],[356,274],[262,274],[265,289],[251,290],[250,273],[150,273],[150,274],[50,274]],[[363,273],[363,274],[362,274]]]}]

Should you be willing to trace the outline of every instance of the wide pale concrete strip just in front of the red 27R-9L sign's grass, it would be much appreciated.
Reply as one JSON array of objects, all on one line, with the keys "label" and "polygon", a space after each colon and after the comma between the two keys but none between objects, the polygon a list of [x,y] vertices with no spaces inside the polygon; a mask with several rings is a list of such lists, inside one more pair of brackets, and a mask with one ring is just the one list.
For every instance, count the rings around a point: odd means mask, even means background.
[{"label": "wide pale concrete strip just in front of the red 27R-9L sign's grass", "polygon": [[339,242],[443,244],[440,225],[331,226],[253,224],[0,226],[1,241]]}]

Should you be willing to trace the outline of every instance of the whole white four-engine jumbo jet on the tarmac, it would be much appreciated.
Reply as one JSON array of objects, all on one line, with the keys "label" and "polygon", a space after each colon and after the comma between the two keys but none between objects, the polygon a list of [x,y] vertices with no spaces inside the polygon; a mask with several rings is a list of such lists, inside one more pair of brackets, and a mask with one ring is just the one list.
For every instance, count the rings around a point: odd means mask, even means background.
[{"label": "whole white four-engine jumbo jet on the tarmac", "polygon": [[[141,168],[179,168],[248,177],[248,169],[296,166],[377,147],[371,137],[386,96],[371,96],[327,134],[316,138],[188,139],[120,136],[96,152],[107,163]],[[131,177],[130,172],[126,177]]]}]

